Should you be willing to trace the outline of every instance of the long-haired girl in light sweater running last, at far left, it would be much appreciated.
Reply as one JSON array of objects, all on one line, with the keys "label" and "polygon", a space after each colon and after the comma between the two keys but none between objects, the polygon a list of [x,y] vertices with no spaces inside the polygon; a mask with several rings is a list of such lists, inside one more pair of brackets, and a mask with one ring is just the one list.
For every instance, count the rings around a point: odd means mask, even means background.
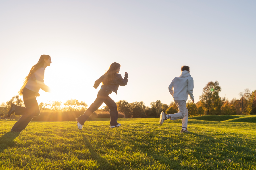
[{"label": "long-haired girl in light sweater running last, at far left", "polygon": [[50,88],[44,84],[44,71],[51,63],[49,55],[41,55],[37,64],[30,69],[28,76],[25,77],[24,84],[19,91],[19,95],[23,96],[25,107],[12,103],[7,114],[7,117],[10,117],[14,112],[15,115],[22,115],[12,127],[11,132],[21,132],[27,127],[33,117],[40,114],[36,97],[40,96],[38,93],[40,89],[50,92]]}]

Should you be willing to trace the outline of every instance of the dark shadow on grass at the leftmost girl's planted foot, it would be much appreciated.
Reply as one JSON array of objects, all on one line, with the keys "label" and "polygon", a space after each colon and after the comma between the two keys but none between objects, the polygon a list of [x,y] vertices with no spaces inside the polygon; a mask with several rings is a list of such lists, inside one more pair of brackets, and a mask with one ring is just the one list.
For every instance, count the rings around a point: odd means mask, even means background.
[{"label": "dark shadow on grass at the leftmost girl's planted foot", "polygon": [[20,132],[7,132],[0,137],[0,153],[14,145],[13,140],[20,135]]}]

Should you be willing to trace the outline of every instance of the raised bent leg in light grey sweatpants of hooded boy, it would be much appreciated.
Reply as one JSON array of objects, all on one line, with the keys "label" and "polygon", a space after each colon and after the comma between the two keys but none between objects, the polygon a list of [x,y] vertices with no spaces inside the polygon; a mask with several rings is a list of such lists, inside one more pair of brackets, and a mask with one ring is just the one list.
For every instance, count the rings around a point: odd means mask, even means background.
[{"label": "raised bent leg in light grey sweatpants of hooded boy", "polygon": [[183,119],[186,115],[186,101],[185,100],[174,100],[179,111],[178,113],[166,115],[167,118],[171,117],[171,120]]}]

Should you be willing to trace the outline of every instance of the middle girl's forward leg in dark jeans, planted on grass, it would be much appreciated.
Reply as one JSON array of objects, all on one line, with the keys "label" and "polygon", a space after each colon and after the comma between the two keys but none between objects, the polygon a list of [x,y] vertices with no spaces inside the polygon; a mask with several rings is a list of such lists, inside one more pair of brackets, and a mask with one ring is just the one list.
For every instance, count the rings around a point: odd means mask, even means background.
[{"label": "middle girl's forward leg in dark jeans, planted on grass", "polygon": [[118,119],[118,111],[117,106],[114,100],[112,100],[109,96],[106,98],[104,103],[109,107],[109,113],[110,113],[110,126],[116,126],[118,125],[117,119]]}]

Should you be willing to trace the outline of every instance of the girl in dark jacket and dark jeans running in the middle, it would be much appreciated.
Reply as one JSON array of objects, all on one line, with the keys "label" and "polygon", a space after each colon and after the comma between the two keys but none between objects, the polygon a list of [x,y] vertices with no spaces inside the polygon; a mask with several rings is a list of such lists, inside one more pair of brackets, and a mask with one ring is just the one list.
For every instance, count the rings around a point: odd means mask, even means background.
[{"label": "girl in dark jacket and dark jeans running in the middle", "polygon": [[114,100],[109,97],[109,94],[115,92],[117,94],[117,90],[119,85],[125,86],[128,82],[128,73],[125,72],[124,79],[121,74],[118,74],[120,71],[119,63],[112,63],[108,69],[108,71],[102,75],[98,80],[94,83],[94,88],[97,89],[100,83],[102,86],[98,92],[97,98],[91,104],[91,106],[84,112],[83,115],[76,118],[77,127],[79,130],[82,130],[85,121],[90,117],[90,115],[95,112],[103,103],[105,103],[109,107],[110,113],[110,128],[115,128],[121,126],[120,123],[117,122],[118,119],[118,111],[117,106]]}]

